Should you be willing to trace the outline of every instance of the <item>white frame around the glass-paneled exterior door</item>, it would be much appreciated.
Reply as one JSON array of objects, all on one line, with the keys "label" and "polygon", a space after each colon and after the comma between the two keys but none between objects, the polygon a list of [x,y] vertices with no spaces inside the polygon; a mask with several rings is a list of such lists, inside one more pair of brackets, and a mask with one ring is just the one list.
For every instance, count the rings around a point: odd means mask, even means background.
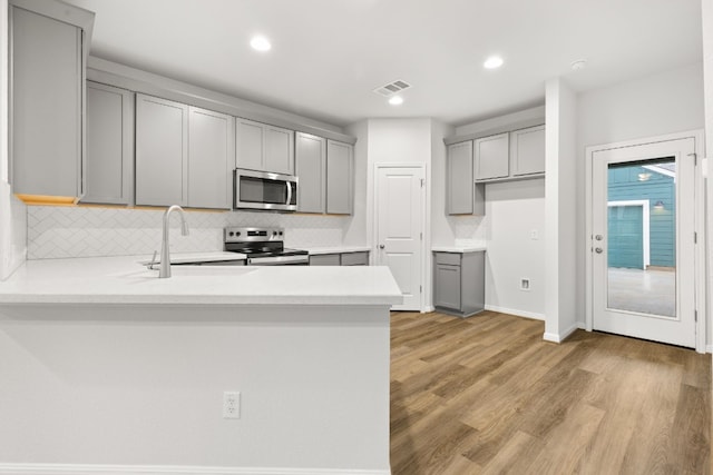
[{"label": "white frame around the glass-paneled exterior door", "polygon": [[705,154],[704,149],[704,131],[691,130],[686,132],[667,133],[657,137],[648,137],[635,140],[626,140],[621,142],[604,144],[599,146],[592,146],[586,148],[585,152],[585,328],[587,331],[592,331],[594,327],[594,298],[593,298],[593,269],[594,269],[594,256],[592,253],[590,236],[593,236],[592,214],[593,214],[593,167],[594,167],[594,154],[604,150],[612,150],[616,148],[635,147],[648,144],[657,144],[662,141],[680,140],[693,138],[695,154],[697,156],[697,165],[695,167],[695,232],[697,236],[696,246],[694,250],[695,263],[695,303],[694,308],[697,314],[697,321],[695,324],[695,350],[697,353],[705,353],[706,350],[706,275],[705,275],[705,259],[706,259],[706,228],[705,228],[705,179],[702,172],[702,159]]}]

